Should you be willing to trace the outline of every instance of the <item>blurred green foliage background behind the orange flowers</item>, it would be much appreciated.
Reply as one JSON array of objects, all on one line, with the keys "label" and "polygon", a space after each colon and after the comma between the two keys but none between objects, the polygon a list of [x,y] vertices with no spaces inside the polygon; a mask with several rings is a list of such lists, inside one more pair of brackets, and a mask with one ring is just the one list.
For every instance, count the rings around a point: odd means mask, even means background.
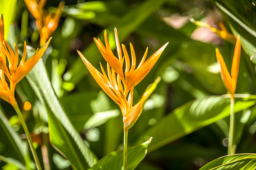
[{"label": "blurred green foliage background behind the orange flowers", "polygon": [[[48,0],[45,9],[54,13],[59,2]],[[134,91],[136,102],[156,77],[162,77],[155,92],[146,102],[141,117],[129,131],[128,146],[138,145],[153,136],[148,154],[136,170],[197,170],[209,161],[226,155],[229,124],[226,107],[229,100],[206,96],[226,93],[215,58],[215,47],[220,49],[230,70],[234,44],[207,28],[194,25],[189,18],[201,20],[215,28],[219,28],[218,23],[223,22],[228,32],[235,36],[241,35],[243,50],[236,93],[255,94],[256,7],[252,2],[253,0],[65,0],[58,28],[52,35],[53,39],[43,59],[61,106],[95,155],[100,159],[112,151],[122,149],[122,114],[89,74],[77,50],[97,69],[100,69],[99,61],[106,67],[93,37],[102,39],[102,31],[107,30],[110,45],[114,54],[117,54],[113,39],[115,27],[118,29],[120,42],[127,47],[129,42],[133,43],[137,60],[142,58],[146,47],[149,48],[150,56],[169,41],[156,65]],[[5,2],[0,0],[0,3]],[[10,25],[7,28],[8,42],[17,42],[20,49],[23,49],[23,41],[26,40],[28,45],[37,48],[39,37],[35,19],[23,0],[17,0],[13,4],[8,3],[7,11],[7,7],[0,7],[1,13],[6,17],[5,27]],[[31,77],[18,83],[15,95],[20,106],[26,100],[33,106],[30,111],[23,111],[23,116],[30,132],[35,135],[33,138],[38,144],[38,155],[42,159],[44,149],[41,146],[45,145],[51,169],[70,170],[72,168],[69,161],[49,143],[47,112],[54,111],[50,105],[44,107],[45,103],[38,99],[35,88],[31,87]],[[40,82],[40,78],[38,81]],[[194,99],[197,100],[189,102]],[[236,153],[255,153],[255,103],[240,100],[237,99],[235,105]],[[3,117],[2,121],[9,121],[14,132],[23,134],[15,111],[8,103],[3,100],[0,102],[3,107],[1,110],[5,112],[3,115],[8,117],[8,120]],[[0,125],[1,132],[5,132],[5,125]],[[61,133],[60,128],[54,130]],[[0,133],[0,156],[22,162],[15,154],[15,148],[7,134]],[[20,145],[25,150],[25,158],[33,160],[33,157],[26,154],[27,144]],[[3,170],[15,170],[17,164],[13,165],[15,163],[10,160],[4,161],[3,157],[0,160]],[[32,163],[31,167],[35,168],[35,165]]]}]

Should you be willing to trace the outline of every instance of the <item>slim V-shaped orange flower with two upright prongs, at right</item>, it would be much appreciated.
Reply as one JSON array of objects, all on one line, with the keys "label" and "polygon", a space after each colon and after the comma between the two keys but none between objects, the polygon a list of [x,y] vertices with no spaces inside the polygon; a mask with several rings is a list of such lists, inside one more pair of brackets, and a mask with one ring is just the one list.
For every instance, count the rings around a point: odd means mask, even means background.
[{"label": "slim V-shaped orange flower with two upright prongs, at right", "polygon": [[241,53],[241,41],[240,35],[237,36],[236,46],[233,55],[232,67],[231,67],[231,75],[228,72],[225,61],[223,60],[222,55],[218,48],[215,49],[217,61],[220,65],[220,75],[222,81],[226,87],[226,89],[231,93],[231,95],[235,94],[236,91],[236,82],[238,78],[239,71],[239,63],[240,63],[240,53]]}]

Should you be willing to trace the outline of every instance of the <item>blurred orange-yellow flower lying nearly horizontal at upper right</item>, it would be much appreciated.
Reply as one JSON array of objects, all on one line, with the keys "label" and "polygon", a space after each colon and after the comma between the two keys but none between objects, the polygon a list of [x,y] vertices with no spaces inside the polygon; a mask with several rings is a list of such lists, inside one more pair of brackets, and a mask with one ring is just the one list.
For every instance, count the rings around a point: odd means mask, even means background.
[{"label": "blurred orange-yellow flower lying nearly horizontal at upper right", "polygon": [[220,26],[221,30],[218,29],[218,28],[214,28],[214,27],[211,27],[209,24],[207,23],[204,23],[202,21],[197,21],[195,20],[194,18],[190,18],[190,21],[192,23],[194,23],[195,25],[198,25],[198,26],[201,26],[201,27],[205,27],[205,28],[208,28],[211,32],[214,32],[215,34],[219,35],[220,37],[222,37],[223,39],[231,42],[231,43],[235,43],[236,42],[236,37],[233,35],[233,34],[230,34],[223,22],[219,22],[218,25]]}]

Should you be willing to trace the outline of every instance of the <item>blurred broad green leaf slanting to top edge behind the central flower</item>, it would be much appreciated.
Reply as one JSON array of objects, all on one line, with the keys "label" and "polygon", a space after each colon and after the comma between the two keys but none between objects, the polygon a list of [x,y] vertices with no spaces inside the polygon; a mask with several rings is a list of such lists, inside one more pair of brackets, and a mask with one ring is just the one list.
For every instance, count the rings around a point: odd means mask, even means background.
[{"label": "blurred broad green leaf slanting to top edge behind the central flower", "polygon": [[[140,6],[136,7],[133,10],[130,10],[123,17],[121,17],[116,23],[112,23],[106,28],[110,30],[108,33],[110,46],[112,49],[115,49],[115,39],[114,39],[114,28],[118,29],[118,35],[120,42],[123,42],[126,37],[128,37],[141,23],[143,23],[148,16],[153,13],[156,9],[158,9],[165,0],[147,0],[143,2]],[[98,35],[102,39],[102,34]],[[97,49],[97,46],[92,42],[83,52],[84,56],[95,65],[100,59],[100,52]],[[78,82],[85,75],[86,69],[79,57],[72,65],[72,68],[67,72],[71,74],[72,77],[69,81]]]}]

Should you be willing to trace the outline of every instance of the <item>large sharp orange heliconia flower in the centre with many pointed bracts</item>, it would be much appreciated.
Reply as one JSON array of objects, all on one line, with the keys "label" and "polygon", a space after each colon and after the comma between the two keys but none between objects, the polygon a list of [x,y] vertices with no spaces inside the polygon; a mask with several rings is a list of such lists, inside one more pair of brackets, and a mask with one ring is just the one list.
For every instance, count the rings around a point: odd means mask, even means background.
[{"label": "large sharp orange heliconia flower in the centre with many pointed bracts", "polygon": [[[149,85],[146,91],[143,93],[141,100],[133,106],[133,90],[134,87],[141,82],[141,80],[148,74],[148,72],[155,65],[156,61],[159,59],[161,53],[164,51],[166,44],[164,44],[159,50],[157,50],[151,57],[146,60],[148,48],[146,49],[143,58],[136,68],[136,56],[133,45],[130,43],[131,48],[131,63],[128,52],[125,45],[120,45],[118,39],[118,32],[115,28],[115,42],[118,57],[115,57],[113,54],[109,42],[107,32],[104,32],[105,45],[101,42],[99,38],[94,38],[94,41],[100,50],[103,58],[107,62],[107,74],[104,71],[101,63],[99,72],[93,65],[82,55],[80,51],[77,50],[81,59],[83,60],[85,66],[92,74],[92,77],[100,85],[102,90],[104,90],[108,96],[119,105],[122,114],[123,114],[123,123],[126,130],[130,129],[134,123],[138,120],[138,117],[141,115],[143,106],[151,95],[151,93],[156,88],[157,83],[160,80],[160,77],[155,80],[155,82]],[[123,52],[122,52],[123,50]],[[124,55],[124,56],[123,56]],[[123,72],[123,64],[125,60],[125,71]],[[127,95],[129,96],[127,99]]]}]

